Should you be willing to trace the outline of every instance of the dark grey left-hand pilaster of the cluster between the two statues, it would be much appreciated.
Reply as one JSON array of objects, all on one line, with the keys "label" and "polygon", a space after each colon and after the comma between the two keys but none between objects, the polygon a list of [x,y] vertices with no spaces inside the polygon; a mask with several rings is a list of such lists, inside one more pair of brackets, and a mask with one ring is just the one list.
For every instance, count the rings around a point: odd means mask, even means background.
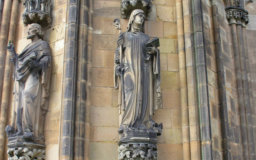
[{"label": "dark grey left-hand pilaster of the cluster between the two statues", "polygon": [[60,159],[72,160],[74,156],[74,118],[76,107],[76,67],[78,53],[78,22],[80,0],[67,3],[66,40],[64,52],[63,96],[60,134]]}]

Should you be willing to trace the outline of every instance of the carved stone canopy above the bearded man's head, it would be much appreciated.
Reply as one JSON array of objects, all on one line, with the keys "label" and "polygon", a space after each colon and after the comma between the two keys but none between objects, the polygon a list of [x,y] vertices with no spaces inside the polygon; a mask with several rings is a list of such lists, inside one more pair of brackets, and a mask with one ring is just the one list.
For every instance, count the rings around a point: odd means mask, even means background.
[{"label": "carved stone canopy above the bearded man's head", "polygon": [[24,26],[38,23],[40,25],[52,25],[51,0],[26,0],[25,12],[22,15]]}]

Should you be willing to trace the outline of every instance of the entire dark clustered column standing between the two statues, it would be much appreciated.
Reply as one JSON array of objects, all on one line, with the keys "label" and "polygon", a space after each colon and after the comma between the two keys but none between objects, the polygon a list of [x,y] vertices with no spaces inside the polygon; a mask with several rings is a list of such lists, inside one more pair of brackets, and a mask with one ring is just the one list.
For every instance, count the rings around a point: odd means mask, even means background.
[{"label": "entire dark clustered column standing between the two statues", "polygon": [[60,159],[89,159],[93,0],[67,2]]}]

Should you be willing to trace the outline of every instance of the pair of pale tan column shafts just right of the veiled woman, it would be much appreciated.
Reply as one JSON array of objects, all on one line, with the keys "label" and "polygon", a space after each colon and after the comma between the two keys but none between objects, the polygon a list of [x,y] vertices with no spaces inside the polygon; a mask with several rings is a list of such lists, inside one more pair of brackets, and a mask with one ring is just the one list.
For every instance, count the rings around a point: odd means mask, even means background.
[{"label": "pair of pale tan column shafts just right of the veiled woman", "polygon": [[201,159],[192,10],[190,0],[176,0],[184,160]]}]

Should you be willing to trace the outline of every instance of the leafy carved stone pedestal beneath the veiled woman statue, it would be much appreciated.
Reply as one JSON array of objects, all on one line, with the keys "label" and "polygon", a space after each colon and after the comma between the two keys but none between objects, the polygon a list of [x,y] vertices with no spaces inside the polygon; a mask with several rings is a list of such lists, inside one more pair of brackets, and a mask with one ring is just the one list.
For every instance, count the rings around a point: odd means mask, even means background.
[{"label": "leafy carved stone pedestal beneath the veiled woman statue", "polygon": [[157,139],[153,131],[125,131],[118,142],[118,160],[157,160]]}]

